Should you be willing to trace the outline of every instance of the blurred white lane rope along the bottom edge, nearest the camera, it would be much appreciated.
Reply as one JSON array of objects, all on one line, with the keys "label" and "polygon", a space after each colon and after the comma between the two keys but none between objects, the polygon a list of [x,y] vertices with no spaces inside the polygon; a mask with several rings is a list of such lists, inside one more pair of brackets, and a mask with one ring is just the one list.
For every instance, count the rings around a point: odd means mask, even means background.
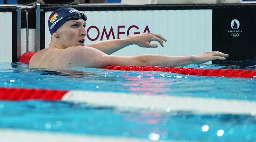
[{"label": "blurred white lane rope along the bottom edge, nearest the camera", "polygon": [[[49,131],[0,129],[0,142],[152,142],[148,139],[82,135]],[[161,142],[181,142],[162,140]],[[185,141],[182,141],[185,142]]]}]

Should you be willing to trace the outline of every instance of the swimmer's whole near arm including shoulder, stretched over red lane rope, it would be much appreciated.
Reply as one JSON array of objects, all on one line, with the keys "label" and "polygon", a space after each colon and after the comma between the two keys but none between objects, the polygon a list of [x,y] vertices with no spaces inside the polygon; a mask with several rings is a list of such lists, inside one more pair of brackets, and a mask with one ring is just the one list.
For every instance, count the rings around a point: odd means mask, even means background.
[{"label": "swimmer's whole near arm including shoulder, stretched over red lane rope", "polygon": [[109,65],[137,65],[137,66],[184,66],[188,64],[202,64],[212,60],[225,60],[228,54],[221,52],[204,52],[194,56],[164,56],[164,55],[140,55],[140,56],[113,56],[91,47],[76,47],[72,51],[73,66],[88,68],[104,68]]}]

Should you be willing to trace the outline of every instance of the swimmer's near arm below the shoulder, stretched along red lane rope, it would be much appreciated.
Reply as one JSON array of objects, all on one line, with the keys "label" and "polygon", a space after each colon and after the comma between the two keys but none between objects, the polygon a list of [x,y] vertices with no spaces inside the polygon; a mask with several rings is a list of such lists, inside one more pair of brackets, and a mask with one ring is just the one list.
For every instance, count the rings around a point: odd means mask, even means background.
[{"label": "swimmer's near arm below the shoulder, stretched along red lane rope", "polygon": [[110,65],[116,66],[164,66],[175,67],[188,64],[203,64],[212,60],[225,60],[228,54],[218,51],[204,52],[194,56],[165,56],[165,55],[140,55],[140,56],[105,56],[104,60],[110,62]]}]

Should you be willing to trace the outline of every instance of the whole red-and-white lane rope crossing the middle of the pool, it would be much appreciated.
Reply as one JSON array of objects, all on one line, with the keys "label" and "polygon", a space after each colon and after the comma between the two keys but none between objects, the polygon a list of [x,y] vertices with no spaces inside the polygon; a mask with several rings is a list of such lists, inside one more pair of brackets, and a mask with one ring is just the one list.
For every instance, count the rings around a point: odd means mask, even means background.
[{"label": "whole red-and-white lane rope crossing the middle of the pool", "polygon": [[86,103],[91,106],[150,109],[161,112],[191,111],[199,114],[255,115],[256,101],[148,95],[100,91],[62,91],[49,89],[1,88],[0,100],[50,100]]}]

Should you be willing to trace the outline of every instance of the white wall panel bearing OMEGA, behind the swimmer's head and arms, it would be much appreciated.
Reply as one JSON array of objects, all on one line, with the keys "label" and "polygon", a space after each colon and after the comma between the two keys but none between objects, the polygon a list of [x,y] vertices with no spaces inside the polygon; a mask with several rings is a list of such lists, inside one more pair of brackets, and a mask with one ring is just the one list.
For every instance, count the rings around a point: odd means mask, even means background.
[{"label": "white wall panel bearing OMEGA, behind the swimmer's head and arms", "polygon": [[[156,49],[140,48],[132,45],[114,53],[114,55],[141,55],[141,54],[161,54],[169,56],[187,56],[199,54],[212,50],[212,10],[159,10],[159,11],[81,11],[87,16],[86,29],[90,26],[98,27],[102,35],[103,27],[107,32],[113,27],[114,36],[117,38],[117,27],[120,28],[120,37],[127,36],[130,26],[138,26],[139,29],[132,28],[130,34],[134,32],[143,33],[148,26],[151,33],[163,35],[168,41],[164,43],[164,48],[159,46]],[[48,30],[48,18],[52,12],[45,12],[45,46],[48,47],[51,34]],[[88,31],[88,30],[87,30]],[[90,38],[96,38],[98,32],[91,28],[88,32]],[[111,34],[110,39],[113,39]],[[103,40],[107,40],[103,35]],[[87,37],[85,44],[92,43]],[[153,42],[156,43],[156,42]]]}]

